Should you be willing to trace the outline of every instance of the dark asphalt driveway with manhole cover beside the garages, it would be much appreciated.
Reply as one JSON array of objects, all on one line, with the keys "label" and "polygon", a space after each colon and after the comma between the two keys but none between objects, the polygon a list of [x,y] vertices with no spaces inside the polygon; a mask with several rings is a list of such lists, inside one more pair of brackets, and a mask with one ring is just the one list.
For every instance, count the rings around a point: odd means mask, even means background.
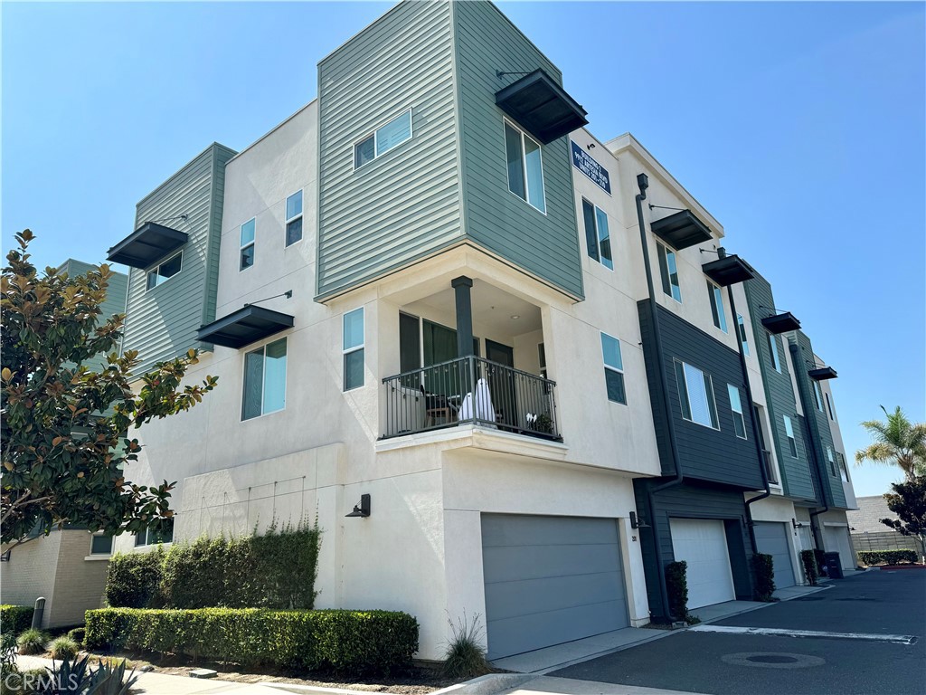
[{"label": "dark asphalt driveway with manhole cover beside the garages", "polygon": [[924,570],[850,575],[819,593],[714,625],[911,635],[917,640],[907,645],[686,630],[549,676],[718,695],[926,693]]}]

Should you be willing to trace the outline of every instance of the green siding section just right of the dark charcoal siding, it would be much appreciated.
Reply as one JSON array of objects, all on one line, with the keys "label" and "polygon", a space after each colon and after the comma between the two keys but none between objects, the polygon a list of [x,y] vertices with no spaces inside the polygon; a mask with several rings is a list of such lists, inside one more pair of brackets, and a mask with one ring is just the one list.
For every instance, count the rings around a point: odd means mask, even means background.
[{"label": "green siding section just right of the dark charcoal siding", "polygon": [[[767,339],[768,331],[762,326],[762,319],[770,316],[772,311],[768,307],[775,306],[775,297],[771,293],[771,285],[761,275],[745,283],[746,301],[749,306],[749,315],[752,317],[753,336],[751,343],[756,349],[756,359],[762,372],[762,381],[765,384],[766,405],[769,410],[772,442],[778,457],[779,470],[782,476],[783,493],[794,499],[813,500],[814,482],[810,474],[810,461],[804,442],[803,428],[797,419],[797,400],[794,387],[791,383],[791,374],[785,355],[788,350],[787,340],[781,335],[772,335],[778,342],[778,356],[782,371],[776,372],[771,364],[771,353]],[[791,418],[795,431],[797,458],[791,455],[787,435],[784,431],[784,419]]]}]

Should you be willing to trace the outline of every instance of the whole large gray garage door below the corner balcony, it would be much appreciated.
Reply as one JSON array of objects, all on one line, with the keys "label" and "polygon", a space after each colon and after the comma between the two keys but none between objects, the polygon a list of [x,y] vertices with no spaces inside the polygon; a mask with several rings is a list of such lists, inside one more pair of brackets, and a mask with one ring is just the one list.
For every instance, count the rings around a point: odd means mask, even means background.
[{"label": "whole large gray garage door below the corner balcony", "polygon": [[482,514],[489,658],[630,622],[614,519]]}]

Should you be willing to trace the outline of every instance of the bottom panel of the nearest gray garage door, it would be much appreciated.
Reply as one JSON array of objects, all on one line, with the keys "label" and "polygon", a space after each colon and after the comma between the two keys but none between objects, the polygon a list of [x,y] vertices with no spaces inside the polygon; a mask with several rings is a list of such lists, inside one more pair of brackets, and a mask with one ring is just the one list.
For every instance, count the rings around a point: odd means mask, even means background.
[{"label": "bottom panel of the nearest gray garage door", "polygon": [[497,659],[524,651],[549,647],[552,644],[600,635],[617,629],[626,620],[627,606],[611,600],[574,608],[533,613],[504,620],[490,620],[489,658]]}]

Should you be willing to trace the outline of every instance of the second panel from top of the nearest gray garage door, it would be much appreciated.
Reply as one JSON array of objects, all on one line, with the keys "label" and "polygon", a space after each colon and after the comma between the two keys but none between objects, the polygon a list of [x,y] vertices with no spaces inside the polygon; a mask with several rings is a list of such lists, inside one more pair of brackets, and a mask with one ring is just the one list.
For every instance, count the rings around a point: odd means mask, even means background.
[{"label": "second panel from top of the nearest gray garage door", "polygon": [[542,576],[617,572],[616,545],[506,546],[482,551],[485,576],[493,582],[536,579]]}]

